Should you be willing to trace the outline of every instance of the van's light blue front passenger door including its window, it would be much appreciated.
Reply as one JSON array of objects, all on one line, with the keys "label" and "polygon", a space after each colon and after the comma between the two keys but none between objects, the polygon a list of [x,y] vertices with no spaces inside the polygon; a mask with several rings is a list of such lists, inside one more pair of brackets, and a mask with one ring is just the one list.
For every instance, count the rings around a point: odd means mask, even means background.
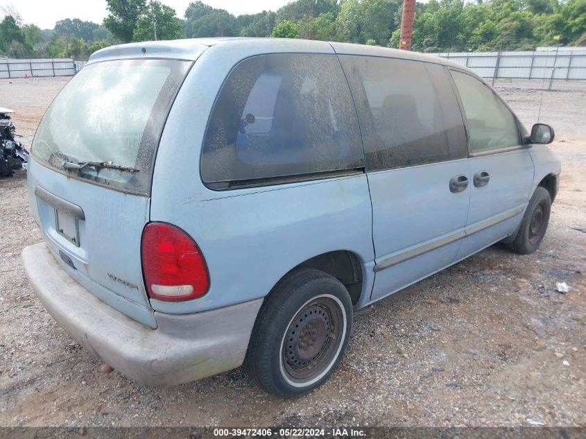
[{"label": "van's light blue front passenger door including its window", "polygon": [[521,223],[531,196],[533,161],[515,115],[478,78],[452,70],[467,121],[470,209],[457,259],[500,241]]}]

